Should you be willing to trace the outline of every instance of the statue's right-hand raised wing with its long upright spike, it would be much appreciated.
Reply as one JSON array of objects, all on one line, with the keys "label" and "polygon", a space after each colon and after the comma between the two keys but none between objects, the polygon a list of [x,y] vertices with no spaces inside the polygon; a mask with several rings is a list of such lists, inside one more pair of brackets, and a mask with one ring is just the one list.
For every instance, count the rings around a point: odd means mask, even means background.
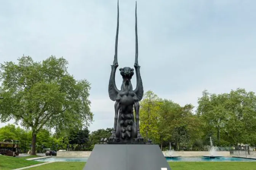
[{"label": "statue's right-hand raised wing with its long upright spike", "polygon": [[135,7],[135,39],[136,39],[136,45],[135,45],[135,63],[134,63],[134,68],[136,71],[136,79],[137,79],[137,85],[136,89],[134,90],[134,93],[137,95],[137,98],[139,101],[141,101],[144,90],[143,90],[143,84],[141,80],[141,73],[140,73],[140,68],[138,64],[138,29],[137,29],[137,2],[136,2],[136,7]]}]

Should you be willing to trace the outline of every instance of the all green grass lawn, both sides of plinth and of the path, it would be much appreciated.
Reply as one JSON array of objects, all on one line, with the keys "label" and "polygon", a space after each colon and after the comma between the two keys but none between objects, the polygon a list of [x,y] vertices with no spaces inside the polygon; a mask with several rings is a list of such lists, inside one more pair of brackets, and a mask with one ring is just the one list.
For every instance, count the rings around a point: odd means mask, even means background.
[{"label": "all green grass lawn, both sides of plinth and of the path", "polygon": [[[27,157],[0,155],[0,170],[11,170],[43,162],[27,161]],[[256,170],[256,162],[168,162],[172,170]],[[85,162],[53,162],[29,170],[82,170]]]}]

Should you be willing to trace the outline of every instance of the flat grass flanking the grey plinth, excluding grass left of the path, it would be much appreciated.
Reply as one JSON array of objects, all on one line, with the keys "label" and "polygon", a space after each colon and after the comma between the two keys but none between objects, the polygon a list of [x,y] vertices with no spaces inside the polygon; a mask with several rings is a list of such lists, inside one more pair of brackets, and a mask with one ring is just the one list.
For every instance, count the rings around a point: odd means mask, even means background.
[{"label": "flat grass flanking the grey plinth, excluding grass left of the path", "polygon": [[[256,170],[256,162],[169,162],[171,170]],[[82,170],[85,162],[54,162],[28,170]]]}]

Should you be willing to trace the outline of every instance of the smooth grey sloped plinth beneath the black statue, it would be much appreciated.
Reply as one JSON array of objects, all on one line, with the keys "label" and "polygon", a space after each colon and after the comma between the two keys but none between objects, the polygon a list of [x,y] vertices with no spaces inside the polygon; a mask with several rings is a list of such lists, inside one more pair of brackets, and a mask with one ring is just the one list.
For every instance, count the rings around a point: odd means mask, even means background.
[{"label": "smooth grey sloped plinth beneath the black statue", "polygon": [[158,145],[95,145],[83,170],[171,170]]}]

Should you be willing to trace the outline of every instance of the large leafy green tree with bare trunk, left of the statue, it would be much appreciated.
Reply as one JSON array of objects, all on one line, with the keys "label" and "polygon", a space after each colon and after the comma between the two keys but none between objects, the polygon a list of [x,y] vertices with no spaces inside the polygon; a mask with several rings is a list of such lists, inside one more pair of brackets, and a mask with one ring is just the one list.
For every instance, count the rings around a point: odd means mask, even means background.
[{"label": "large leafy green tree with bare trunk, left of the statue", "polygon": [[1,64],[0,120],[21,122],[32,130],[32,154],[42,128],[67,131],[88,125],[93,114],[88,100],[90,83],[75,80],[67,71],[64,58],[51,56],[42,62],[21,57],[18,64]]}]

